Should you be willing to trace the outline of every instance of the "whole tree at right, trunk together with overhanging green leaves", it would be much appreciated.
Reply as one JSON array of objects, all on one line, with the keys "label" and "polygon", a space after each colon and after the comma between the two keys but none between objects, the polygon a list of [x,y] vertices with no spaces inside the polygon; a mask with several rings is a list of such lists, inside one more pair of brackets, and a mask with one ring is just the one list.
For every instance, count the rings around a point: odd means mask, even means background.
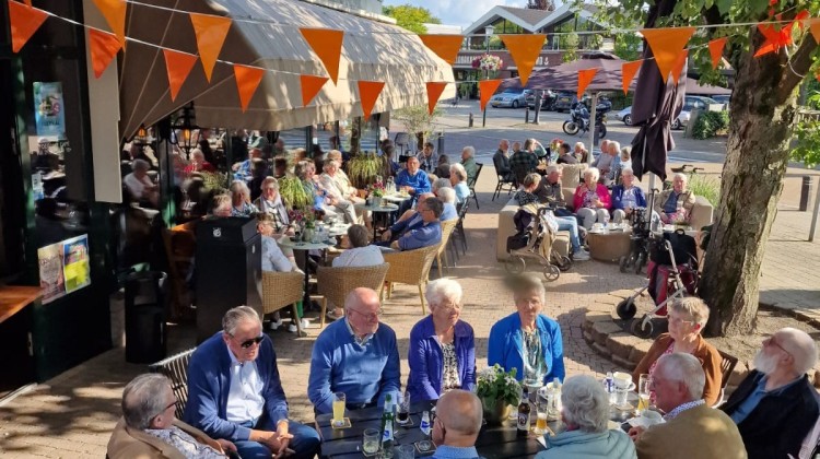
[{"label": "whole tree at right, trunk together with overhanging green leaves", "polygon": [[[598,20],[613,30],[705,26],[775,22],[803,11],[820,15],[820,0],[596,0]],[[671,4],[670,12],[657,5]],[[736,70],[729,113],[726,160],[721,174],[719,203],[706,250],[699,294],[710,306],[706,332],[749,333],[757,326],[760,266],[776,215],[777,200],[792,153],[797,89],[820,60],[818,44],[800,25],[793,25],[793,44],[761,57],[754,54],[766,38],[757,26],[699,28],[689,40],[689,66],[701,82],[719,81],[706,44],[728,37],[723,57]],[[644,63],[646,64],[646,63]],[[798,128],[799,129],[799,128]],[[799,134],[799,132],[798,132]]]}]

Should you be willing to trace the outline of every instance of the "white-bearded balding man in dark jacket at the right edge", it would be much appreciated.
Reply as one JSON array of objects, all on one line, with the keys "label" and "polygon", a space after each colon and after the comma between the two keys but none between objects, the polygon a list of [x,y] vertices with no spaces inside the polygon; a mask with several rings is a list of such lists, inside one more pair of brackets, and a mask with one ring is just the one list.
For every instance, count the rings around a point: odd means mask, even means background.
[{"label": "white-bearded balding man in dark jacket at the right edge", "polygon": [[750,459],[798,457],[820,412],[806,375],[817,364],[817,344],[805,331],[783,328],[763,340],[753,364],[721,410],[737,423]]}]

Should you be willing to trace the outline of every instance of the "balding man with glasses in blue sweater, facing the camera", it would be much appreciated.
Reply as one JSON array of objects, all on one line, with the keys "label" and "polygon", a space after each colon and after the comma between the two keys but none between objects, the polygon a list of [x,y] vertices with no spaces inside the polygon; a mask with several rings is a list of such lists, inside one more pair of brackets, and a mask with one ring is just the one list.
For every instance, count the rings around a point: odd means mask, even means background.
[{"label": "balding man with glasses in blue sweater, facing the camera", "polygon": [[378,294],[355,289],[344,299],[344,319],[337,320],[316,339],[311,357],[307,397],[316,414],[332,412],[333,395],[343,392],[347,408],[384,405],[401,386],[396,332],[379,322]]}]

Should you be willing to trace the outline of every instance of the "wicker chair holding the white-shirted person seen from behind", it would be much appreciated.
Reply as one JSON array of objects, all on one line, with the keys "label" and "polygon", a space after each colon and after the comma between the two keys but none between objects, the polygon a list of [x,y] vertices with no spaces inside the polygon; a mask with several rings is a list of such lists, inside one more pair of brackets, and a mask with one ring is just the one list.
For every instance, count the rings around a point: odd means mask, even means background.
[{"label": "wicker chair holding the white-shirted person seen from behind", "polygon": [[[335,306],[343,307],[344,298],[353,289],[367,287],[378,292],[389,268],[389,263],[373,267],[319,267],[316,271],[319,294]],[[321,316],[321,326],[325,327],[325,315]]]}]

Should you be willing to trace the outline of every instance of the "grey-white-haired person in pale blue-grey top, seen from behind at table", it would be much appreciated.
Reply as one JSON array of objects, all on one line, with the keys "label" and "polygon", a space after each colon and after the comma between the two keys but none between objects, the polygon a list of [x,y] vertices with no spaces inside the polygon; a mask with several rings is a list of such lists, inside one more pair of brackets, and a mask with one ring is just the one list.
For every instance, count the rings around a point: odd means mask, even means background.
[{"label": "grey-white-haired person in pale blue-grey top, seen from behind at table", "polygon": [[609,395],[591,376],[566,378],[561,388],[561,419],[566,431],[544,435],[547,450],[536,459],[636,458],[635,446],[620,428],[609,429]]}]

